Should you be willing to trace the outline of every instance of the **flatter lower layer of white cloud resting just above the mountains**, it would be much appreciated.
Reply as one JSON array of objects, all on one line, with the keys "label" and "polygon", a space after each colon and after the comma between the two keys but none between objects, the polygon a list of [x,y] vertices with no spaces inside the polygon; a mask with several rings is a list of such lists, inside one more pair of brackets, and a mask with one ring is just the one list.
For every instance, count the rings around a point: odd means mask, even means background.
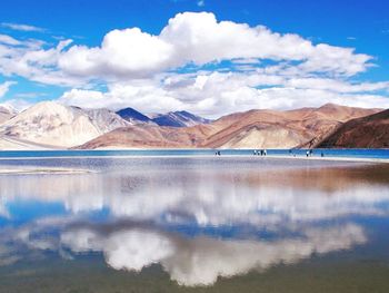
[{"label": "flatter lower layer of white cloud resting just above the mountains", "polygon": [[161,79],[116,82],[106,92],[72,89],[60,101],[79,107],[144,111],[189,110],[217,118],[250,109],[291,109],[335,102],[355,107],[389,107],[389,82],[351,84],[330,78],[286,77],[266,72],[200,72]]}]

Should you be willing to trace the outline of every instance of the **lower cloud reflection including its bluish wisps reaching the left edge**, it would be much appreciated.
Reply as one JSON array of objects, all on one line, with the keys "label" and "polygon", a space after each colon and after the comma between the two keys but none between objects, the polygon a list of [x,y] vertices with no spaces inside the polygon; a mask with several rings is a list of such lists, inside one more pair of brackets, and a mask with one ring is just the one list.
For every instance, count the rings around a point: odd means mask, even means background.
[{"label": "lower cloud reflection including its bluish wisps reaching the left edge", "polygon": [[[53,229],[58,233],[51,234]],[[66,260],[79,254],[102,253],[114,270],[139,272],[160,264],[171,280],[184,286],[212,285],[219,277],[295,264],[312,254],[350,250],[365,244],[359,225],[302,228],[299,235],[265,238],[186,237],[142,223],[91,224],[68,218],[38,221],[8,229],[0,240],[0,265],[57,252]]]}]

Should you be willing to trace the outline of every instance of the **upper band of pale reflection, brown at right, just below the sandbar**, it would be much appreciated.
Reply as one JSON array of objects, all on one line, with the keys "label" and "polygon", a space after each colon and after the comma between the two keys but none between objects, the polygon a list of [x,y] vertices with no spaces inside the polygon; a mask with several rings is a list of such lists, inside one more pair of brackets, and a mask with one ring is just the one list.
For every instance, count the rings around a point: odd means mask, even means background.
[{"label": "upper band of pale reflection, brown at right, just below the sandbar", "polygon": [[200,226],[270,227],[389,212],[389,183],[371,178],[369,168],[19,176],[0,177],[0,213],[8,216],[1,202],[60,203],[73,215],[108,209],[114,217]]}]

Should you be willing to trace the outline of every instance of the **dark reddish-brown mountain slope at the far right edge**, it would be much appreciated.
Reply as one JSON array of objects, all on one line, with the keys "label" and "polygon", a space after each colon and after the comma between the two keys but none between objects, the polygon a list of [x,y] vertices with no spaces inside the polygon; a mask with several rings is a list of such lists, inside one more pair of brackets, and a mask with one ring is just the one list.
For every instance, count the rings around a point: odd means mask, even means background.
[{"label": "dark reddish-brown mountain slope at the far right edge", "polygon": [[389,109],[345,123],[319,147],[388,148]]}]

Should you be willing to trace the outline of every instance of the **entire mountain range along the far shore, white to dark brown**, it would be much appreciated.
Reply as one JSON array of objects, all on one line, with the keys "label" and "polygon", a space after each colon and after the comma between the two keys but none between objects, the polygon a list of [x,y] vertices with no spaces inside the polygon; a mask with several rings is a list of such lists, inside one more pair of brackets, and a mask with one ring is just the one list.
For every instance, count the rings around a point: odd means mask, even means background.
[{"label": "entire mountain range along the far shore, white to dark brown", "polygon": [[206,119],[188,111],[0,106],[0,149],[388,147],[388,110],[327,104]]}]

